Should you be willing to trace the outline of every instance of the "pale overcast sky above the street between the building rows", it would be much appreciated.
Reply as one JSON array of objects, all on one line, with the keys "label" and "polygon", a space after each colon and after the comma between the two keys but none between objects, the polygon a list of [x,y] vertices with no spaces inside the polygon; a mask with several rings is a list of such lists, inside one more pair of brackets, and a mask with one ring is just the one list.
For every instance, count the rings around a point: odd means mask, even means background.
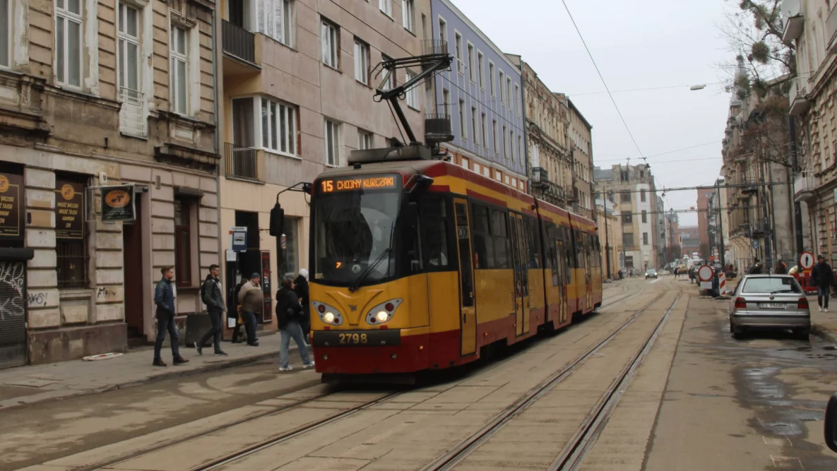
[{"label": "pale overcast sky above the street between the building rows", "polygon": [[[619,114],[604,92],[561,0],[453,0],[504,52],[521,54],[552,91],[569,94],[593,125],[593,164],[639,163]],[[729,111],[722,62],[734,61],[718,26],[722,0],[566,0],[658,188],[712,184],[721,173]],[[511,7],[511,8],[510,8]],[[591,94],[593,93],[593,94]],[[701,145],[706,144],[706,145]],[[695,147],[700,146],[700,147]],[[695,148],[693,148],[695,147]],[[690,148],[687,150],[678,149]],[[665,155],[657,155],[665,153]],[[696,206],[694,190],[665,194],[665,210]],[[680,215],[696,225],[695,214]]]}]

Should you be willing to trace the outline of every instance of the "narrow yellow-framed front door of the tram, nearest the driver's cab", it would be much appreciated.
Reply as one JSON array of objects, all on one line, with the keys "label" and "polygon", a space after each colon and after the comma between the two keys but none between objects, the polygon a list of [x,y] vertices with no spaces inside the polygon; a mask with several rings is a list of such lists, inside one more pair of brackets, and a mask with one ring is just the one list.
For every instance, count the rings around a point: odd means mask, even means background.
[{"label": "narrow yellow-framed front door of the tram, nearest the driver's cab", "polygon": [[474,291],[474,258],[471,256],[470,220],[465,199],[454,199],[456,241],[460,251],[460,332],[461,355],[476,352],[476,297]]}]

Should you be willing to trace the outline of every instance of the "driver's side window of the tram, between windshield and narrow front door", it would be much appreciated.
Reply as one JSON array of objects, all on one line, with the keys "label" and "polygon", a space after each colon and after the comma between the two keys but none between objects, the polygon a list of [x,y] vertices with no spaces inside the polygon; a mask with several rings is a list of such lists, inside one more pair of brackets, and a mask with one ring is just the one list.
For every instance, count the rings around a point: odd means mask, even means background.
[{"label": "driver's side window of the tram, between windshield and narrow front door", "polygon": [[450,258],[448,202],[444,199],[426,199],[419,206],[422,256],[427,272],[447,272],[453,269]]}]

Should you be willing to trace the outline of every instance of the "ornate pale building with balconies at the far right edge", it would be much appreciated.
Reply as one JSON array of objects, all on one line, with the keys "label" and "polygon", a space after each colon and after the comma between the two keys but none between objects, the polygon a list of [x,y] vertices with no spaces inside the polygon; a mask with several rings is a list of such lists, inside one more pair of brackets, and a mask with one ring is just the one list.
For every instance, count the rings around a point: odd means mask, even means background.
[{"label": "ornate pale building with balconies at the far right edge", "polygon": [[789,91],[798,172],[793,196],[802,214],[803,250],[837,266],[837,12],[828,0],[798,0],[784,8],[783,38],[796,45],[797,77]]}]

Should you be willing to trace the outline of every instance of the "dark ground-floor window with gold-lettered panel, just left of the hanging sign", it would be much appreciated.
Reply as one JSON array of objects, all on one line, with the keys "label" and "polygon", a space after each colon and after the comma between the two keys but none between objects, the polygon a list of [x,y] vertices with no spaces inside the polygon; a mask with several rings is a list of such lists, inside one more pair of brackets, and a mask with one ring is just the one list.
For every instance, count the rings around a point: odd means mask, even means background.
[{"label": "dark ground-floor window with gold-lettered panel, just left of the hanging sign", "polygon": [[77,173],[55,173],[55,255],[59,289],[89,287],[85,182]]}]

